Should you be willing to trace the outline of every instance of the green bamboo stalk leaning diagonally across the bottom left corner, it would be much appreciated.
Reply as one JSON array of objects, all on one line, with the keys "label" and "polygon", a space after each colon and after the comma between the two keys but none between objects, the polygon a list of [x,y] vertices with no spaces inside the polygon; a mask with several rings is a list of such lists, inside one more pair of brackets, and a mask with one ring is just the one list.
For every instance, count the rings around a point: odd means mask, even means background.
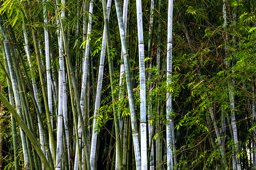
[{"label": "green bamboo stalk leaning diagonally across the bottom left corner", "polygon": [[9,109],[9,111],[12,114],[12,116],[15,117],[16,122],[18,123],[20,128],[22,128],[24,130],[24,133],[26,134],[28,139],[30,139],[30,142],[33,145],[33,147],[35,147],[35,150],[36,150],[37,154],[39,155],[39,157],[41,159],[41,162],[45,164],[45,168],[47,170],[52,170],[53,168],[51,168],[49,162],[47,161],[47,158],[44,155],[44,152],[41,150],[41,147],[40,147],[39,143],[36,142],[37,140],[34,137],[33,133],[28,129],[27,125],[24,123],[22,118],[15,111],[15,109],[11,106],[11,104],[7,101],[6,97],[2,95],[1,92],[0,92],[0,100],[3,102],[3,104],[5,104],[6,108]]}]

